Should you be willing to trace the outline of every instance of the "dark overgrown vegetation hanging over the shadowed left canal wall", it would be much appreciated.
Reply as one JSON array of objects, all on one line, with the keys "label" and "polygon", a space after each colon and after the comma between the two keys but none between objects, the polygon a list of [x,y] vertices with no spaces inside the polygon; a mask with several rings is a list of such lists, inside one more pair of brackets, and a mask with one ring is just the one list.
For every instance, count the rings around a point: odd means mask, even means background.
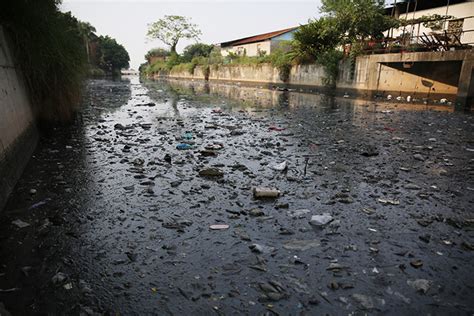
[{"label": "dark overgrown vegetation hanging over the shadowed left canal wall", "polygon": [[74,117],[90,68],[89,38],[95,31],[70,12],[60,12],[59,4],[58,0],[0,4],[0,25],[11,41],[37,118],[46,122]]}]

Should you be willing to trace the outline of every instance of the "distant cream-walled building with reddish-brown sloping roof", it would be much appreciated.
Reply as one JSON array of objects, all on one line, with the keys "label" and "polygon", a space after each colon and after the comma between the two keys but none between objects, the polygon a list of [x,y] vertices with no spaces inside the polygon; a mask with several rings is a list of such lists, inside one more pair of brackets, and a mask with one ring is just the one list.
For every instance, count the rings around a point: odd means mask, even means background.
[{"label": "distant cream-walled building with reddish-brown sloping roof", "polygon": [[227,56],[230,53],[242,56],[269,55],[272,50],[279,47],[283,41],[292,40],[293,33],[297,29],[298,27],[290,27],[279,31],[223,42],[220,44],[221,54],[222,56]]}]

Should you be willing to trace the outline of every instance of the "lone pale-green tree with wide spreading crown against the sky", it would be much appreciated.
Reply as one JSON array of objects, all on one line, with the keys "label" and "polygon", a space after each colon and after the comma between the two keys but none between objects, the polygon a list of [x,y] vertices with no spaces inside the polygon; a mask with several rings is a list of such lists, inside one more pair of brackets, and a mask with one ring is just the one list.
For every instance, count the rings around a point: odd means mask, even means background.
[{"label": "lone pale-green tree with wide spreading crown against the sky", "polygon": [[171,53],[176,54],[176,46],[181,39],[199,39],[201,31],[187,17],[165,15],[162,19],[148,26],[147,36],[159,39],[170,47]]}]

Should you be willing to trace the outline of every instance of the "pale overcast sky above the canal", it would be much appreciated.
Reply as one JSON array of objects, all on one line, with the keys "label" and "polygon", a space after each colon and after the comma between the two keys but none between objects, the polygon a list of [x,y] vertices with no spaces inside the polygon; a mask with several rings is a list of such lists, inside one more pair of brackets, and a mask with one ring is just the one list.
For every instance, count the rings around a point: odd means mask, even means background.
[{"label": "pale overcast sky above the canal", "polygon": [[[202,31],[201,42],[215,44],[306,23],[319,15],[319,5],[319,0],[63,0],[61,10],[91,23],[98,35],[115,38],[137,69],[150,48],[164,47],[145,36],[147,25],[164,15],[191,17]],[[180,42],[178,51],[190,43]]]}]

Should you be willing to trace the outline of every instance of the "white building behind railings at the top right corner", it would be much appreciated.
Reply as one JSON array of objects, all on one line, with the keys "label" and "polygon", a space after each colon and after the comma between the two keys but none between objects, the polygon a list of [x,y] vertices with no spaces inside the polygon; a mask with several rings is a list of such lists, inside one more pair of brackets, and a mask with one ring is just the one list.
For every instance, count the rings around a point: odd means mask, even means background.
[{"label": "white building behind railings at the top right corner", "polygon": [[[474,45],[474,0],[386,0],[386,12],[406,21],[389,38],[405,43],[444,44],[446,48]],[[431,21],[428,21],[429,19]]]}]

